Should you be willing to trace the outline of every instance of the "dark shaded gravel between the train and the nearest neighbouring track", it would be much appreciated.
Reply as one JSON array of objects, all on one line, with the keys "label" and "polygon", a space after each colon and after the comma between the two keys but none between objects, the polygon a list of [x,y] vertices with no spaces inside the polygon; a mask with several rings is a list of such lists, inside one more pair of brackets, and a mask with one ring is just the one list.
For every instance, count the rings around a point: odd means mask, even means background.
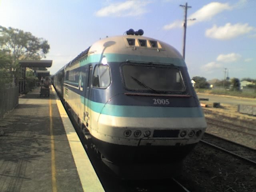
[{"label": "dark shaded gravel between the train and the nearest neighbouring track", "polygon": [[199,143],[177,178],[192,192],[256,192],[256,167]]}]

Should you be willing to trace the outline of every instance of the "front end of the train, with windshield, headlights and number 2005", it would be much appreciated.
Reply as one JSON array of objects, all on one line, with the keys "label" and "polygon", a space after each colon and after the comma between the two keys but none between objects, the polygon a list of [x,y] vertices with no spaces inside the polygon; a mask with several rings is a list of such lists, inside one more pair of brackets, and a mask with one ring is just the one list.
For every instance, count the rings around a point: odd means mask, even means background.
[{"label": "front end of the train, with windshield, headlights and number 2005", "polygon": [[176,174],[206,130],[184,59],[172,46],[142,36],[106,42],[112,42],[102,54],[111,84],[91,130],[102,160],[118,174]]}]

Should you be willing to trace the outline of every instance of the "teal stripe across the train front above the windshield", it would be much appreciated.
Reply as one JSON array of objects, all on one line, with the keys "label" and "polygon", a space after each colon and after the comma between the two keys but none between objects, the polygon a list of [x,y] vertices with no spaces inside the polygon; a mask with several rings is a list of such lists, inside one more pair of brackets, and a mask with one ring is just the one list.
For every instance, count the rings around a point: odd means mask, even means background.
[{"label": "teal stripe across the train front above the windshield", "polygon": [[[88,56],[86,60],[80,62],[80,66],[92,62],[101,62],[101,54],[92,54]],[[166,63],[174,64],[175,66],[185,67],[186,64],[183,59],[180,58],[169,58],[169,57],[157,57],[157,56],[142,56],[142,55],[128,55],[128,54],[104,54],[108,62],[125,62],[130,61],[140,61],[140,62],[156,62],[156,63]]]}]

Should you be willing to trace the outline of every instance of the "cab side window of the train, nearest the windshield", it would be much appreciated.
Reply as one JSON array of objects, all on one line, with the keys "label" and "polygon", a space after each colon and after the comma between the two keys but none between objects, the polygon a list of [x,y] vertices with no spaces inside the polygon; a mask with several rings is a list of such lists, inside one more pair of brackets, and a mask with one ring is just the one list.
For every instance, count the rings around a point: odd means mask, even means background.
[{"label": "cab side window of the train, nearest the windshield", "polygon": [[110,71],[107,65],[97,65],[92,76],[92,86],[96,88],[107,88],[110,85]]}]

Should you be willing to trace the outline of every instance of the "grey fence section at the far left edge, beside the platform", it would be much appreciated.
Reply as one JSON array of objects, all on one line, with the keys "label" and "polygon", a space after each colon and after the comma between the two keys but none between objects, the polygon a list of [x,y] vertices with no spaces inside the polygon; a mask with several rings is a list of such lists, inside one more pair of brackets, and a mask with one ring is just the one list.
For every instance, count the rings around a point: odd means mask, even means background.
[{"label": "grey fence section at the far left edge, beside the platform", "polygon": [[19,104],[19,86],[0,89],[0,119]]}]

